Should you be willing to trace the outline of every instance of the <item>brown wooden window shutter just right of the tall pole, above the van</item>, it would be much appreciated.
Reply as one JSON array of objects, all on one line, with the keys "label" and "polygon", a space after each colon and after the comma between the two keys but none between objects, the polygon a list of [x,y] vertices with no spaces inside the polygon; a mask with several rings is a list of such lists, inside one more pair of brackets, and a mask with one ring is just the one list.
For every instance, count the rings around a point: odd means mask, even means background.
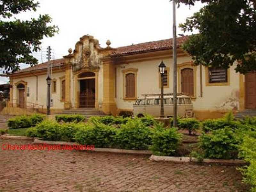
[{"label": "brown wooden window shutter just right of the tall pole, above the van", "polygon": [[181,92],[194,96],[194,70],[191,68],[181,70]]}]

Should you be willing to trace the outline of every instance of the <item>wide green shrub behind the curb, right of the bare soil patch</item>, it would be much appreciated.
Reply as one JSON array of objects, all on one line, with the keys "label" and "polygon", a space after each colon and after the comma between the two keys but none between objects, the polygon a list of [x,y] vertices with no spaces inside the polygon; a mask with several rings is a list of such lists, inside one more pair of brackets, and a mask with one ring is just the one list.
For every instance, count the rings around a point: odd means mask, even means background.
[{"label": "wide green shrub behind the curb, right of the bare soil patch", "polygon": [[238,154],[235,133],[230,127],[213,130],[209,134],[199,136],[200,147],[204,150],[205,158],[236,159]]}]

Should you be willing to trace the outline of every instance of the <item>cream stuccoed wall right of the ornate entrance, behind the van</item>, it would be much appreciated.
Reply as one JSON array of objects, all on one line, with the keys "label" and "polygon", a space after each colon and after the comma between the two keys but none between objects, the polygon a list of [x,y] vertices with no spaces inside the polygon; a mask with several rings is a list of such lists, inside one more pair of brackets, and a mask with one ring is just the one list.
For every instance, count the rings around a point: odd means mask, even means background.
[{"label": "cream stuccoed wall right of the ornate entrance, behind the van", "polygon": [[[165,93],[173,92],[173,68],[172,59],[163,59],[166,67],[170,67],[169,88],[164,88]],[[177,58],[177,65],[191,61],[191,57]],[[132,109],[134,101],[123,100],[124,82],[123,69],[137,68],[137,97],[144,93],[160,93],[158,86],[158,60],[150,60],[123,64],[117,66],[117,97],[116,105],[120,109]],[[125,66],[125,68],[121,68]],[[206,86],[205,84],[205,68],[202,69],[203,81],[203,97],[200,97],[200,67],[196,68],[196,99],[193,100],[194,109],[207,110],[230,110],[237,105],[239,108],[239,73],[234,68],[230,68],[230,86]]]}]

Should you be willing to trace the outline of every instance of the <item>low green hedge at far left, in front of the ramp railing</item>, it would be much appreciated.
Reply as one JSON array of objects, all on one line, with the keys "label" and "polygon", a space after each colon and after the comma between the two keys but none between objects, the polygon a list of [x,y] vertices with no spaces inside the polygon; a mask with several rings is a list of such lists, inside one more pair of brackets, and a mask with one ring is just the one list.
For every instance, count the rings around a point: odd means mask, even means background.
[{"label": "low green hedge at far left, in front of the ramp railing", "polygon": [[10,129],[33,127],[44,120],[44,115],[34,114],[32,116],[17,116],[10,118],[7,125]]}]

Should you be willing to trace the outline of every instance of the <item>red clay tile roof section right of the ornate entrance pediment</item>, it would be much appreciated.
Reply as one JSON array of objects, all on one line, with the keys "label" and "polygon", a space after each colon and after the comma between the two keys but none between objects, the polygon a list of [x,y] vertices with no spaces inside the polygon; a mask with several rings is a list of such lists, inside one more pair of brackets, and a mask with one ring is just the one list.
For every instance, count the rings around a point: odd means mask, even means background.
[{"label": "red clay tile roof section right of the ornate entrance pediment", "polygon": [[[182,36],[177,38],[177,48],[188,39],[188,36]],[[116,48],[113,55],[126,55],[126,54],[137,54],[141,52],[152,52],[159,50],[172,49],[172,39],[165,39],[160,41],[152,41],[147,43],[140,43],[135,45],[129,45],[124,47]]]}]

